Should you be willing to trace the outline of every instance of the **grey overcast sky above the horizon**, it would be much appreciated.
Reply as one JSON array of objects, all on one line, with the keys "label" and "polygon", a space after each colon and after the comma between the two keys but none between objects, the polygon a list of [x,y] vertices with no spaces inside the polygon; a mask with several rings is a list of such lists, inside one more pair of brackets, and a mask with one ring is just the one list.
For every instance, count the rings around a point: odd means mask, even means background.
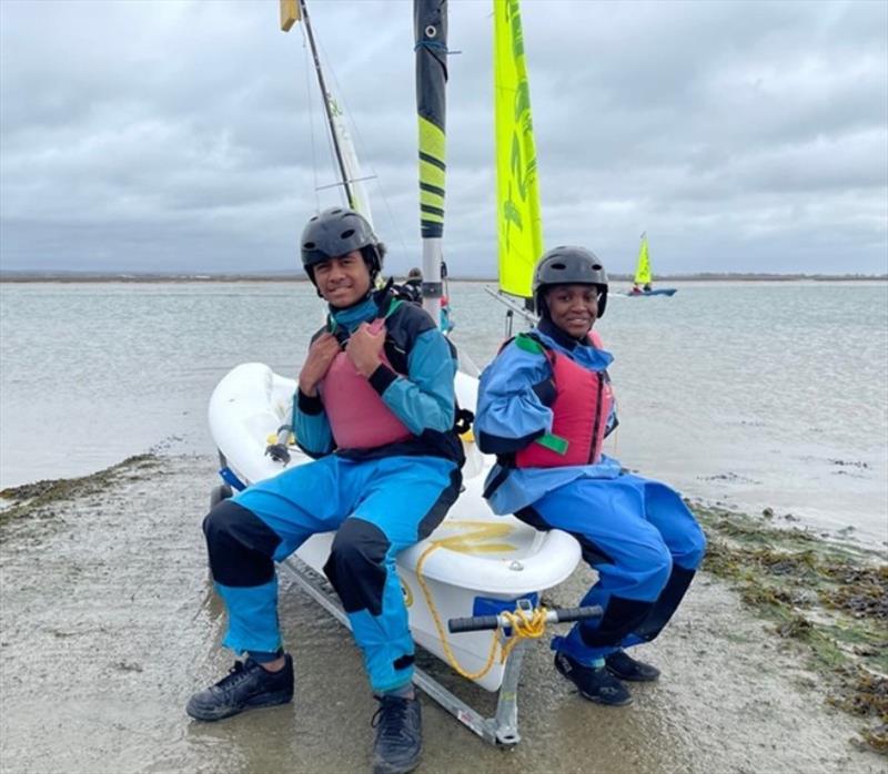
[{"label": "grey overcast sky above the horizon", "polygon": [[[491,3],[451,0],[445,256],[495,265]],[[420,262],[412,10],[312,0],[389,268]],[[545,244],[888,272],[888,3],[523,3]],[[280,271],[339,203],[278,0],[0,0],[0,267]],[[314,119],[314,120],[313,120]]]}]

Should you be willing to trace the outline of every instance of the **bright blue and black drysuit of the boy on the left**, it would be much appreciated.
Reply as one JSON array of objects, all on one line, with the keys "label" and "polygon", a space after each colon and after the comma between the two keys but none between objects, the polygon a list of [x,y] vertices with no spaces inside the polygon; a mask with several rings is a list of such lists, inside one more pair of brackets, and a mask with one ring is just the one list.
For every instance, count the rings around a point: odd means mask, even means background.
[{"label": "bright blue and black drysuit of the boy on the left", "polygon": [[462,482],[453,431],[456,361],[428,315],[377,293],[354,307],[331,308],[330,329],[344,343],[386,310],[385,353],[394,370],[381,365],[370,384],[413,436],[374,449],[337,449],[322,399],[297,393],[296,438],[319,459],[248,488],[204,520],[210,567],[229,611],[223,644],[263,655],[282,645],[273,562],[316,532],[336,531],[324,572],[380,693],[413,675],[395,558],[437,527]]}]

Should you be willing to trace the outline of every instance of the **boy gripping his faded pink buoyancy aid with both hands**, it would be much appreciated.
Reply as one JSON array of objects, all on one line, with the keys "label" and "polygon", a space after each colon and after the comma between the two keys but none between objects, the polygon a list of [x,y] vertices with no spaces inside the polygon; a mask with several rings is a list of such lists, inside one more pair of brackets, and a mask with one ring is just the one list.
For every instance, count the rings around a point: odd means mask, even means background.
[{"label": "boy gripping his faded pink buoyancy aid with both hands", "polygon": [[315,532],[335,530],[324,572],[380,702],[374,767],[408,772],[420,757],[421,714],[395,558],[437,527],[460,492],[456,356],[421,307],[390,288],[374,291],[384,247],[359,213],[325,210],[309,221],[301,245],[329,309],[293,407],[295,437],[315,459],[249,487],[205,518],[210,569],[229,617],[223,644],[245,659],[195,693],[186,711],[215,721],[291,701],[274,562]]}]

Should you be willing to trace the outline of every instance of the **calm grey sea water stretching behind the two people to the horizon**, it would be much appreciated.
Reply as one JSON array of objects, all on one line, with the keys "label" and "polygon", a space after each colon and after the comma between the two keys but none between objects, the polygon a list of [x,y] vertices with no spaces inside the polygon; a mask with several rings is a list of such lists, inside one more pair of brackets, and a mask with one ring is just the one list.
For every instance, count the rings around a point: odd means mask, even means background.
[{"label": "calm grey sea water stretching behind the two people to the horizon", "polygon": [[[613,297],[598,326],[609,451],[687,496],[888,540],[888,285],[676,285]],[[478,283],[451,299],[455,343],[484,365],[503,307]],[[219,379],[250,360],[295,375],[321,320],[304,283],[0,285],[0,487],[212,454]]]}]

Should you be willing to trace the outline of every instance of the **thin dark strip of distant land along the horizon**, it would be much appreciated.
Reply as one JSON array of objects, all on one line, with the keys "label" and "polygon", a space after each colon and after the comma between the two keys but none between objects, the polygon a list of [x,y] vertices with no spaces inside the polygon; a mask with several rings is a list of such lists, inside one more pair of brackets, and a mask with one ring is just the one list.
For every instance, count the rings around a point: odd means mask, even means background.
[{"label": "thin dark strip of distant land along the horizon", "polygon": [[[396,279],[398,277],[395,277]],[[454,282],[495,283],[496,277],[461,277]],[[612,274],[615,282],[630,283],[629,274]],[[670,274],[657,277],[657,287],[670,282],[888,282],[888,274]],[[181,274],[114,272],[0,272],[1,283],[231,283],[231,282],[307,282],[304,274]]]}]

